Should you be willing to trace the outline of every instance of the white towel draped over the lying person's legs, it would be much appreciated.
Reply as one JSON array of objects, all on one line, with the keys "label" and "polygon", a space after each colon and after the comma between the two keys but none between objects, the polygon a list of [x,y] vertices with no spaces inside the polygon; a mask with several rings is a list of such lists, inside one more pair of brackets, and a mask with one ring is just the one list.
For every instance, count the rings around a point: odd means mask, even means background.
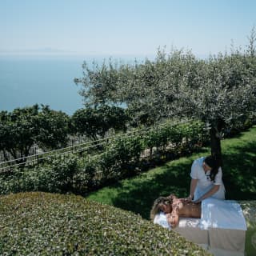
[{"label": "white towel draped over the lying person's legs", "polygon": [[234,200],[206,198],[202,201],[200,228],[220,228],[230,230],[247,230],[242,208]]}]

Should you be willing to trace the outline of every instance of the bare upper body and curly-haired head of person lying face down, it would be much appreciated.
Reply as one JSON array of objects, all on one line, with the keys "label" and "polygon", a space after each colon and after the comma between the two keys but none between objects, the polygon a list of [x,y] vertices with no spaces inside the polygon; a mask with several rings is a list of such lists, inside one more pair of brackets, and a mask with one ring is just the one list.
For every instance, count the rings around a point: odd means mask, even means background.
[{"label": "bare upper body and curly-haired head of person lying face down", "polygon": [[201,203],[189,202],[185,198],[177,198],[174,194],[169,197],[160,197],[154,201],[150,211],[150,219],[154,221],[156,214],[166,214],[171,228],[178,226],[179,217],[201,218]]}]

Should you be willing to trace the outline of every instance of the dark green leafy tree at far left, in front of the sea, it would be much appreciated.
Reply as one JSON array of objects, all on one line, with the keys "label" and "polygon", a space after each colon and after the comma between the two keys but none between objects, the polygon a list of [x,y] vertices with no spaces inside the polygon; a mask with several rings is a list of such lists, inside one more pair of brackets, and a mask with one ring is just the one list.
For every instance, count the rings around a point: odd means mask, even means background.
[{"label": "dark green leafy tree at far left, in front of the sea", "polygon": [[0,112],[0,150],[6,160],[12,158],[25,162],[30,148],[56,149],[67,142],[69,117],[49,106],[17,108]]}]

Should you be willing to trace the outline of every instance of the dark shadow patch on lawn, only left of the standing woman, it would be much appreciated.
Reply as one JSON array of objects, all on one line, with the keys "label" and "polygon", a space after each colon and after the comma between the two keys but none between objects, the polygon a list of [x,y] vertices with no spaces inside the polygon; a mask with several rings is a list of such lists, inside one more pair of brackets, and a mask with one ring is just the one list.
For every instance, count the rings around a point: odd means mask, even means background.
[{"label": "dark shadow patch on lawn, only left of the standing woman", "polygon": [[116,207],[142,215],[142,218],[150,218],[150,208],[158,196],[171,193],[179,197],[186,196],[190,183],[190,166],[190,161],[178,165],[166,164],[162,167],[161,174],[134,179],[125,187],[119,185],[118,196],[112,202]]}]

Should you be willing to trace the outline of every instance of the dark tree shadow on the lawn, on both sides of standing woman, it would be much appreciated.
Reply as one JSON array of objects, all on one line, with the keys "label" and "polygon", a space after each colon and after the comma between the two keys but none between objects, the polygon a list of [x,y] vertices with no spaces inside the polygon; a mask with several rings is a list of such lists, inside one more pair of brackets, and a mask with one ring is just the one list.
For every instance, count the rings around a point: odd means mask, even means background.
[{"label": "dark tree shadow on the lawn, on both sides of standing woman", "polygon": [[[226,199],[256,200],[256,144],[232,146],[230,153],[223,154],[223,181],[226,186]],[[119,188],[113,198],[116,207],[133,211],[150,218],[150,208],[158,196],[170,193],[185,197],[190,187],[190,167],[193,158],[186,161],[174,161],[162,167],[160,174],[149,178],[131,179],[129,185]],[[123,190],[122,190],[123,189]]]}]

